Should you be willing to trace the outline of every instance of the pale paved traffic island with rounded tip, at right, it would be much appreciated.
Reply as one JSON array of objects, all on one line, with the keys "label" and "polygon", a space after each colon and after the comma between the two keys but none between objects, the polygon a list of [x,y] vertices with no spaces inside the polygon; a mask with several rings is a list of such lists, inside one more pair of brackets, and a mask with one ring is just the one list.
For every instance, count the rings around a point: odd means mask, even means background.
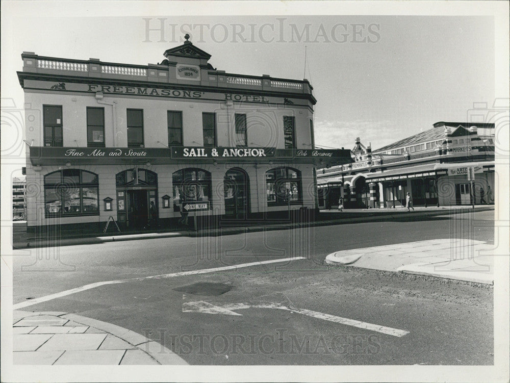
[{"label": "pale paved traffic island with rounded tip, at right", "polygon": [[494,284],[494,245],[470,239],[433,239],[341,250],[327,264]]}]

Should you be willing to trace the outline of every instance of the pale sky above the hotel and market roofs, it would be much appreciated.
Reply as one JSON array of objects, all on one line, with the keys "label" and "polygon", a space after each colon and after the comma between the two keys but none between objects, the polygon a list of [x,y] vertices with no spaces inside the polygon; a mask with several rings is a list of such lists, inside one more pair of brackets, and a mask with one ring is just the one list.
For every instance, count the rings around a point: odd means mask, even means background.
[{"label": "pale sky above the hotel and market roofs", "polygon": [[[256,15],[259,7],[214,16],[221,11],[199,2],[141,1],[129,11],[118,7],[127,4],[122,1],[27,3],[32,2],[2,2],[3,107],[23,106],[16,76],[23,51],[146,65],[161,62],[185,33],[212,55],[209,62],[218,70],[308,79],[317,98],[318,146],[352,148],[360,137],[376,149],[437,121],[465,121],[473,103],[492,105],[495,98],[490,15],[383,15],[384,7],[374,8],[379,15],[363,15],[370,13],[367,8],[356,15],[356,9],[307,3],[294,11],[280,4],[274,15]],[[6,138],[4,132],[7,146],[21,137]]]}]

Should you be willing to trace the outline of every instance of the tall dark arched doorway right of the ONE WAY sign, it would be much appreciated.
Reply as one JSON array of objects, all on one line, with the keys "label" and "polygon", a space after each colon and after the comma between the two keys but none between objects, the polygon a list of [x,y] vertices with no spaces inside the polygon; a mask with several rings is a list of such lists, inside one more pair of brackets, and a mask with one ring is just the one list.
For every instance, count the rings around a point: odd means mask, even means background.
[{"label": "tall dark arched doorway right of the ONE WAY sign", "polygon": [[225,197],[225,216],[234,219],[246,219],[249,213],[249,178],[240,168],[227,170],[223,179]]}]

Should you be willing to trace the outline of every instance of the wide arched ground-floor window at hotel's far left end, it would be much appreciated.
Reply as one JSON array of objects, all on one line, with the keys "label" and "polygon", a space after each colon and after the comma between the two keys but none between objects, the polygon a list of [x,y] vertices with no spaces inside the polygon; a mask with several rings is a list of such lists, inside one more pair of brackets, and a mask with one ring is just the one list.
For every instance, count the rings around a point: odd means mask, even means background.
[{"label": "wide arched ground-floor window at hotel's far left end", "polygon": [[99,181],[95,173],[65,169],[44,176],[46,217],[99,214]]}]

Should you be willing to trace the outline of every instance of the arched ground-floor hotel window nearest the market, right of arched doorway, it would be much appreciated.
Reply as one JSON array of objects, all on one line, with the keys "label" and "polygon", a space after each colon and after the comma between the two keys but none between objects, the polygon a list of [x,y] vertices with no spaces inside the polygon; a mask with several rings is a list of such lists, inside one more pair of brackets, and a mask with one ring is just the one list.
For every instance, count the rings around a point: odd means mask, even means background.
[{"label": "arched ground-floor hotel window nearest the market, right of arched doorway", "polygon": [[266,172],[266,199],[268,206],[300,203],[301,173],[292,168],[281,167]]}]

